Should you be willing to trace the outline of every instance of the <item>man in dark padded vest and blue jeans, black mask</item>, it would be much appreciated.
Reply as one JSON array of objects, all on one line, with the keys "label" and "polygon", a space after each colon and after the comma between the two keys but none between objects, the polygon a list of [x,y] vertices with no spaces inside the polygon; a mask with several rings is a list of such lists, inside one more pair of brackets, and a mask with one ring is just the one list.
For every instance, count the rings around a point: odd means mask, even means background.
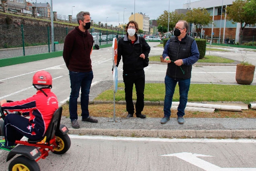
[{"label": "man in dark padded vest and blue jeans, black mask", "polygon": [[199,59],[196,40],[187,35],[187,30],[188,22],[184,20],[178,21],[175,26],[174,36],[167,41],[163,50],[164,62],[168,64],[165,76],[164,117],[161,119],[161,124],[165,124],[170,120],[171,103],[177,82],[180,89],[177,119],[179,124],[184,124],[183,116],[185,115],[184,110],[188,101],[192,64]]}]

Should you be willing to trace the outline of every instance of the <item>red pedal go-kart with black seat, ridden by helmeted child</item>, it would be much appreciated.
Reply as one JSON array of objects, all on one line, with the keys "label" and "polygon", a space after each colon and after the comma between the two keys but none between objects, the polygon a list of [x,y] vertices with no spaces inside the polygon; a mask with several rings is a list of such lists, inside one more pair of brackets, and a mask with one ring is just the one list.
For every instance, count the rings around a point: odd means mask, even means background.
[{"label": "red pedal go-kart with black seat, ridden by helmeted child", "polygon": [[[1,107],[0,113],[0,119],[4,119],[9,114],[8,111],[3,111]],[[21,115],[21,113],[16,113]],[[40,171],[37,161],[45,159],[49,155],[49,151],[58,155],[68,151],[71,141],[67,135],[68,128],[60,124],[61,114],[62,107],[59,107],[54,112],[51,123],[42,139],[38,141],[31,141],[30,139],[27,141],[15,141],[18,145],[10,150],[6,162],[17,154],[19,156],[10,162],[9,171]],[[1,136],[3,136],[3,125],[4,121],[0,120]]]}]

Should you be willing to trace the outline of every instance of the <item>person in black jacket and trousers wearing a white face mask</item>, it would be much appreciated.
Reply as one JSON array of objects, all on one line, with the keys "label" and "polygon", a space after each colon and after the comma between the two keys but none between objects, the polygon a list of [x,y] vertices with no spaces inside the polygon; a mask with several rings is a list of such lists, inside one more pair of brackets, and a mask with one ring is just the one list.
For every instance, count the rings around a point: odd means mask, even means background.
[{"label": "person in black jacket and trousers wearing a white face mask", "polygon": [[132,89],[135,84],[137,101],[135,105],[136,117],[146,118],[141,112],[144,108],[144,89],[145,89],[145,72],[143,70],[143,60],[147,60],[150,52],[150,46],[144,38],[136,34],[138,24],[130,21],[126,25],[127,34],[118,41],[118,60],[116,66],[123,61],[123,80],[126,101],[127,117],[133,117],[134,105],[132,102]]}]

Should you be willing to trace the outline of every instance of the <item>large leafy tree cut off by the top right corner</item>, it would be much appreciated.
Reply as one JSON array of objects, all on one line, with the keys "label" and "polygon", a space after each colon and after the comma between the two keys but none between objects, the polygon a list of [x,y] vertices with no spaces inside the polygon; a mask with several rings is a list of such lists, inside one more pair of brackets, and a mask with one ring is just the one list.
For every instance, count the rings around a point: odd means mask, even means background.
[{"label": "large leafy tree cut off by the top right corner", "polygon": [[256,23],[256,1],[255,0],[235,0],[231,6],[227,6],[227,19],[233,24],[240,23],[239,42],[243,30],[247,24]]}]

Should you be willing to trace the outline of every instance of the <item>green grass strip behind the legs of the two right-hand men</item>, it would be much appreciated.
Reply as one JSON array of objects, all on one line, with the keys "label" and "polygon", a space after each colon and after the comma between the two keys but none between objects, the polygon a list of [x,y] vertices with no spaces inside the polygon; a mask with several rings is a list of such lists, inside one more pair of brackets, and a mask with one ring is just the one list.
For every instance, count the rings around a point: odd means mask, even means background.
[{"label": "green grass strip behind the legs of the two right-hand men", "polygon": [[[164,79],[164,78],[163,78]],[[179,87],[176,86],[173,101],[179,101]],[[164,101],[165,84],[147,83],[145,84],[145,101]],[[124,101],[124,83],[118,83],[116,101]],[[256,86],[251,85],[220,85],[220,84],[191,84],[188,93],[188,101],[239,101],[250,103],[256,101]],[[112,101],[113,89],[101,93],[95,100]],[[134,87],[133,100],[136,100]]]}]

